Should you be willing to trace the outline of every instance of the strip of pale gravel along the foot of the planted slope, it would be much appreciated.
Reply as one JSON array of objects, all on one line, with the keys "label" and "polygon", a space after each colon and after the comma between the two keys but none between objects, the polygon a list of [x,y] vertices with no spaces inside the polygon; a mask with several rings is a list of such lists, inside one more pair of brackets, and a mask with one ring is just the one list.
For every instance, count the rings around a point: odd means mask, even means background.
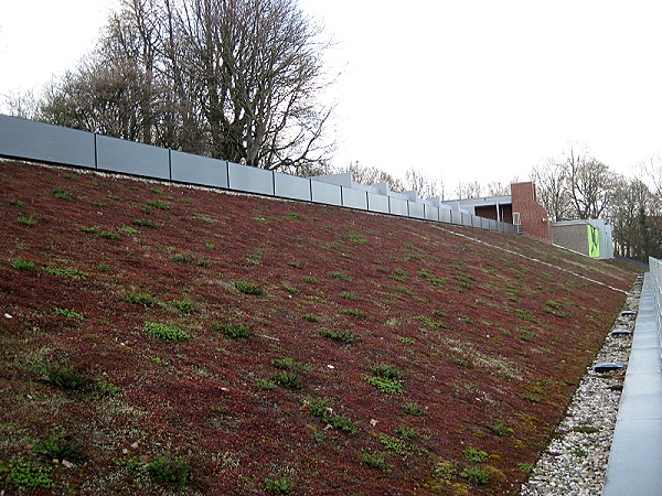
[{"label": "strip of pale gravel along the foot of the planted slope", "polygon": [[[637,283],[623,310],[637,312],[640,295],[641,284]],[[633,331],[634,320],[636,315],[621,315],[612,331]],[[627,365],[631,344],[631,335],[609,333],[520,495],[594,496],[601,493],[626,370],[596,373],[594,366]]]}]

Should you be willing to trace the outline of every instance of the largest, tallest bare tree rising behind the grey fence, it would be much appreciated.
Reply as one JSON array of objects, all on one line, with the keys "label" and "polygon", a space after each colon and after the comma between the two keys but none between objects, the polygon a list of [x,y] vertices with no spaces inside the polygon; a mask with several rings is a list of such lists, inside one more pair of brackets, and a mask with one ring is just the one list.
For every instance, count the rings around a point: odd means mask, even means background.
[{"label": "largest, tallest bare tree rising behind the grey fence", "polygon": [[265,169],[323,160],[321,28],[295,0],[191,0],[172,9],[177,68],[211,154]]}]

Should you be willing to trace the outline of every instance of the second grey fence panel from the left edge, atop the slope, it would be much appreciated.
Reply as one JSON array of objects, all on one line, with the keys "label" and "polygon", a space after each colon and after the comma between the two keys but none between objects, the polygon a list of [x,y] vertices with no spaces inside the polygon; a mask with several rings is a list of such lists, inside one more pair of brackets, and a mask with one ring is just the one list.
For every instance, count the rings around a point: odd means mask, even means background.
[{"label": "second grey fence panel from the left edge, atop the slope", "polygon": [[170,151],[97,134],[97,168],[154,179],[170,179]]}]

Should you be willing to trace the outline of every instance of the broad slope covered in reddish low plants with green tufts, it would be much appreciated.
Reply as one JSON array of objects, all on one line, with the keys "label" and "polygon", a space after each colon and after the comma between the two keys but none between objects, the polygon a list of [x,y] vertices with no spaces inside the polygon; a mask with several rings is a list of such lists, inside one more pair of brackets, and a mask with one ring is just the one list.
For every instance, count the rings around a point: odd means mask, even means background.
[{"label": "broad slope covered in reddish low plants with green tufts", "polygon": [[0,179],[8,494],[514,493],[633,281],[523,237],[10,162]]}]

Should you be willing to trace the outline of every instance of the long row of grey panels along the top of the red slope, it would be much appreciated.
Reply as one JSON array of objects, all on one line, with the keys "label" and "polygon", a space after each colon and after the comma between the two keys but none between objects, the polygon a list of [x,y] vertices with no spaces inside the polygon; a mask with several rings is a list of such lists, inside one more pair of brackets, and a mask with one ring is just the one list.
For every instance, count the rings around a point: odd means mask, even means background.
[{"label": "long row of grey panels along the top of the red slope", "polygon": [[431,200],[389,194],[387,187],[385,194],[366,191],[3,115],[0,157],[516,233],[511,224],[447,208],[438,202],[435,205]]}]

